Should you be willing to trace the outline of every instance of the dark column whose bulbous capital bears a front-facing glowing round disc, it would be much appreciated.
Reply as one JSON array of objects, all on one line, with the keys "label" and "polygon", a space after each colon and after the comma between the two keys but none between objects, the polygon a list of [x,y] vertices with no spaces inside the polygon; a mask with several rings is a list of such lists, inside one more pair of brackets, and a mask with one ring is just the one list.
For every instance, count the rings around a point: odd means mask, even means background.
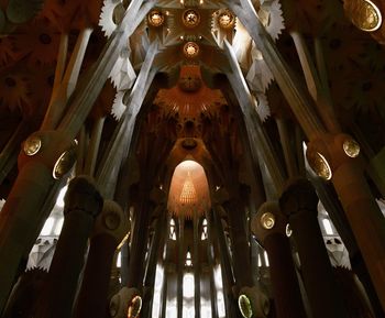
[{"label": "dark column whose bulbous capital bears a front-facing glowing round disc", "polygon": [[277,318],[306,318],[286,235],[287,223],[277,202],[265,202],[252,220],[252,231],[268,254]]}]

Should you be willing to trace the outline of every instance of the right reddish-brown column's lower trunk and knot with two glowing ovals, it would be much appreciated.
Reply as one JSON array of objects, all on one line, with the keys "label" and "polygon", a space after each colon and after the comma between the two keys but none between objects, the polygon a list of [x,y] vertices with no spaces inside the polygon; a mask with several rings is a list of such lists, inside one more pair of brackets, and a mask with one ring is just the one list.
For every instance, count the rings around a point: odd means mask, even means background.
[{"label": "right reddish-brown column's lower trunk and knot with two glowing ovals", "polygon": [[360,164],[360,146],[346,134],[324,134],[308,144],[307,158],[331,179],[385,309],[385,220]]}]

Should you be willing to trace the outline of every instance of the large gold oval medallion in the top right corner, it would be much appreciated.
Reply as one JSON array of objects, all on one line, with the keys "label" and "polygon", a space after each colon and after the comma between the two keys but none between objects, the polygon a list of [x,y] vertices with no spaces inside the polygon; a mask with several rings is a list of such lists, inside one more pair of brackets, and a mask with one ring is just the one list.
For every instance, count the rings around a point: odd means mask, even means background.
[{"label": "large gold oval medallion in the top right corner", "polygon": [[352,23],[365,32],[373,32],[381,28],[383,18],[376,4],[371,0],[358,0],[350,6]]}]

